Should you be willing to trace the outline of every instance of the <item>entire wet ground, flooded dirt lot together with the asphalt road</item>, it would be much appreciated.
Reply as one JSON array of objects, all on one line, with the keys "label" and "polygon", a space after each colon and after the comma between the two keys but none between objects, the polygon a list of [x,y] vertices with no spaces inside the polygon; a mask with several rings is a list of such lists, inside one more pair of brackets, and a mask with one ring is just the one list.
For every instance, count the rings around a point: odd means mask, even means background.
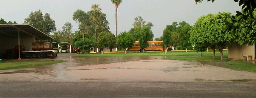
[{"label": "entire wet ground, flooded dirt lot together with the asphalt road", "polygon": [[0,70],[0,97],[256,97],[256,73],[163,58],[61,53],[55,59],[23,59],[66,62]]}]

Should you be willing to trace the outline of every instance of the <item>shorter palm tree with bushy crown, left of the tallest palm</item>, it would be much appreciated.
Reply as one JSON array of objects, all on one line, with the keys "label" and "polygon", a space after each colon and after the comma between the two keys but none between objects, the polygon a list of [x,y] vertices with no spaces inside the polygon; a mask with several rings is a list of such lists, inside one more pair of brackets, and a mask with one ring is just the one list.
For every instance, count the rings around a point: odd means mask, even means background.
[{"label": "shorter palm tree with bushy crown, left of the tallest palm", "polygon": [[96,28],[97,28],[96,20],[97,20],[97,18],[100,17],[100,14],[101,14],[101,8],[99,8],[99,5],[93,4],[91,11],[90,11],[90,15],[93,17],[93,20],[95,21],[96,44],[98,44],[98,38],[97,38],[98,35],[97,35],[97,31],[96,31]]}]

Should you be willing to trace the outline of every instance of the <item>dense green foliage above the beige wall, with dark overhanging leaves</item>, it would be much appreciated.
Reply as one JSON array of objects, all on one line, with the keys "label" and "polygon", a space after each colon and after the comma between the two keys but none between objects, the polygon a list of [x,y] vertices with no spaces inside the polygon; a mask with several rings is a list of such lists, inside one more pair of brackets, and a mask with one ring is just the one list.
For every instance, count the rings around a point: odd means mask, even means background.
[{"label": "dense green foliage above the beige wall, with dark overhanging leaves", "polygon": [[[203,0],[194,0],[196,4],[198,2],[203,2]],[[214,0],[207,0],[212,1]],[[242,6],[241,12],[236,11],[236,16],[232,16],[233,23],[227,23],[228,30],[233,30],[238,38],[236,40],[241,45],[244,44],[255,44],[256,38],[256,32],[254,29],[254,23],[253,20],[255,20],[255,9],[256,9],[256,1],[255,0],[234,0],[235,2],[238,2],[239,6]],[[247,21],[247,22],[246,22]],[[250,25],[252,24],[252,25]],[[254,29],[254,30],[253,30]],[[249,30],[249,31],[246,31]]]}]

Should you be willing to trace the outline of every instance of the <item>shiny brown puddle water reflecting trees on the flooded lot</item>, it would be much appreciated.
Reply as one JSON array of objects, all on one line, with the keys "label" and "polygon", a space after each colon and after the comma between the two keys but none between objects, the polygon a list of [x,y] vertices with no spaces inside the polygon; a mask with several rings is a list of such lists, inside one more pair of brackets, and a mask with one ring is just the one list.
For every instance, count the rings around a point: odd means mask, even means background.
[{"label": "shiny brown puddle water reflecting trees on the flooded lot", "polygon": [[[155,60],[162,59],[162,56],[138,56],[138,57],[82,57],[73,56],[69,53],[60,53],[55,60],[64,60],[66,62],[34,67],[36,70],[31,70],[37,75],[53,76],[56,79],[73,80],[72,77],[66,76],[67,67],[83,66],[83,65],[97,65],[97,64],[110,64],[126,61],[138,60]],[[22,72],[22,71],[19,71]]]}]

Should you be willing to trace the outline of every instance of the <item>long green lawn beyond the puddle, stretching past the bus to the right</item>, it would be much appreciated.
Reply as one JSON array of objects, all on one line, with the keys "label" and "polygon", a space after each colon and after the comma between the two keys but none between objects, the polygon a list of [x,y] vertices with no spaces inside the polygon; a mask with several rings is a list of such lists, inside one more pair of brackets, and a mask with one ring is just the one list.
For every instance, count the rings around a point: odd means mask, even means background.
[{"label": "long green lawn beyond the puddle, stretching past the bus to the right", "polygon": [[[227,57],[227,51],[223,51],[224,60],[220,60],[220,53],[218,50],[215,51],[215,59],[213,58],[212,51],[202,52],[196,51],[168,51],[166,54],[163,51],[146,51],[135,52],[135,51],[126,51],[126,54],[123,52],[119,53],[93,53],[93,54],[75,54],[75,56],[83,57],[115,57],[115,56],[166,56],[166,60],[181,60],[181,61],[199,61],[202,63],[205,62],[214,62],[215,66],[229,68],[238,71],[248,71],[256,72],[256,64],[253,64],[250,61],[241,61],[241,60],[229,60]],[[207,63],[208,64],[208,63]],[[212,64],[210,64],[212,65]]]}]

